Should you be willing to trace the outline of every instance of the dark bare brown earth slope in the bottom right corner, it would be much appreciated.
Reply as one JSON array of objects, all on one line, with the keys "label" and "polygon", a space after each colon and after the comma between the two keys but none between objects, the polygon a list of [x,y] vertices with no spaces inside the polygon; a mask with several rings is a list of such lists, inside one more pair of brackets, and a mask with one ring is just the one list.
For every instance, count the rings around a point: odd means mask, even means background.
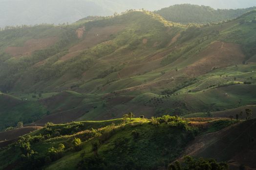
[{"label": "dark bare brown earth slope in the bottom right corner", "polygon": [[184,154],[228,161],[233,170],[238,170],[240,165],[256,169],[255,138],[256,119],[252,119],[197,137]]}]

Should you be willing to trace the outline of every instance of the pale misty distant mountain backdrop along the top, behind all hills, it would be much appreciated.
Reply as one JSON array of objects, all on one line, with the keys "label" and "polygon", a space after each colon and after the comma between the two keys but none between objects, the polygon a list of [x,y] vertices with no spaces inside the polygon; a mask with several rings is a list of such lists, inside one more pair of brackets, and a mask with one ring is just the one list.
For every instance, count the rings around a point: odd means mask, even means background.
[{"label": "pale misty distant mountain backdrop along the top, behind all hills", "polygon": [[[73,23],[87,16],[111,16],[114,12],[141,8],[154,11],[180,3],[224,9],[256,6],[252,0],[0,0],[0,27],[42,23],[58,25]],[[241,12],[235,16],[239,14]],[[224,16],[224,19],[227,18]]]}]

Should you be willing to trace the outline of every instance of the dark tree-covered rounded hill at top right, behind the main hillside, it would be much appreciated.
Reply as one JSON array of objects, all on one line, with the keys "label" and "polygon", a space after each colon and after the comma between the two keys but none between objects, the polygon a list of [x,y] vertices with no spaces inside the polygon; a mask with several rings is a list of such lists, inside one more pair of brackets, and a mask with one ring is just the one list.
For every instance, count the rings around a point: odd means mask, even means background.
[{"label": "dark tree-covered rounded hill at top right, behind the main hillside", "polygon": [[161,15],[166,20],[173,22],[206,24],[234,19],[255,9],[256,7],[215,10],[210,6],[181,4],[163,8],[155,11],[155,13]]}]

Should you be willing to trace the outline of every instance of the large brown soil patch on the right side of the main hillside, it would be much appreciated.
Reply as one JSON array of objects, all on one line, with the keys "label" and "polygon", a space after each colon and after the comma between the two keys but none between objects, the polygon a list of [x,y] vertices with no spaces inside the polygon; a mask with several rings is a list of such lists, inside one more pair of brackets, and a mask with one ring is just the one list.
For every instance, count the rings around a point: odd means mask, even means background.
[{"label": "large brown soil patch on the right side of the main hillside", "polygon": [[[245,56],[238,44],[217,41],[198,54],[196,58],[200,59],[181,71],[191,77],[198,76],[211,71],[213,68],[239,64]],[[192,61],[192,59],[190,60]]]}]

